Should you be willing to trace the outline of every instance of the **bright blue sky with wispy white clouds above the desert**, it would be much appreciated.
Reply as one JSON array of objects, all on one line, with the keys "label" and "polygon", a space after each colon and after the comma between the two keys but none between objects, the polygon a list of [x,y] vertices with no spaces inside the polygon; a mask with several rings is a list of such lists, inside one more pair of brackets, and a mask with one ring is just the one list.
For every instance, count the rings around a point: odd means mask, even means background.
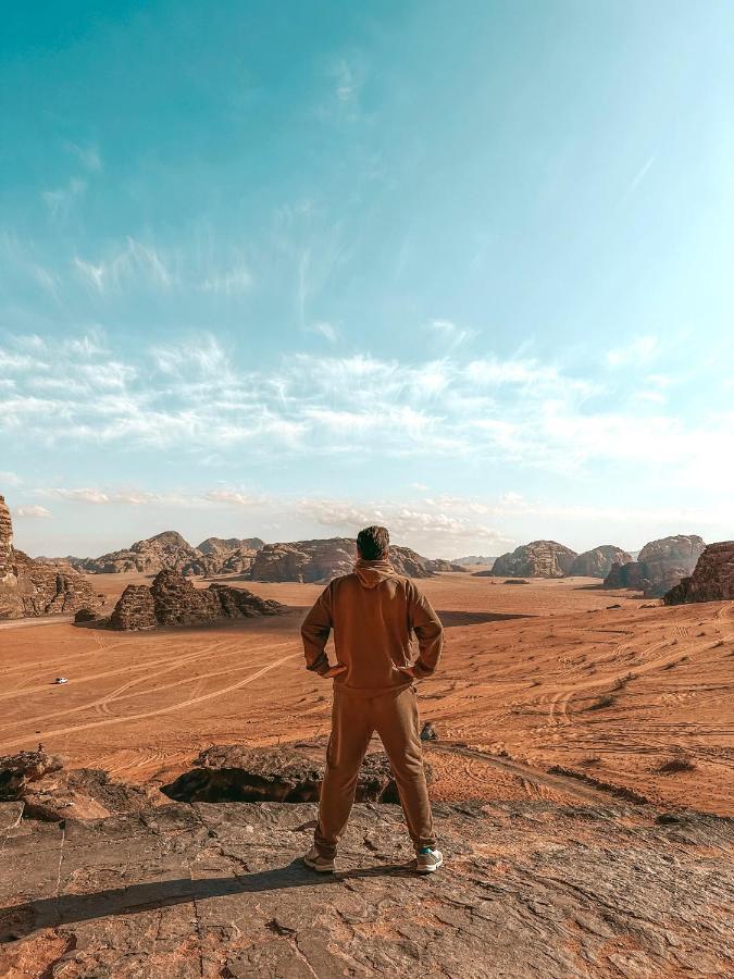
[{"label": "bright blue sky with wispy white clouds above the desert", "polygon": [[10,7],[17,545],[734,536],[733,98],[729,2]]}]

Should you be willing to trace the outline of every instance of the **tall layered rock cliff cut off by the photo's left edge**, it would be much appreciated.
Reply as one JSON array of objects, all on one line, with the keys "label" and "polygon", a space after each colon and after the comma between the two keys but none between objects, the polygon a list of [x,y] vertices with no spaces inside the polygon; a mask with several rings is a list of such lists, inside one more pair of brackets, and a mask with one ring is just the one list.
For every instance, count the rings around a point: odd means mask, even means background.
[{"label": "tall layered rock cliff cut off by the photo's left edge", "polygon": [[0,619],[69,615],[100,604],[67,561],[34,560],[13,547],[10,510],[0,496]]}]

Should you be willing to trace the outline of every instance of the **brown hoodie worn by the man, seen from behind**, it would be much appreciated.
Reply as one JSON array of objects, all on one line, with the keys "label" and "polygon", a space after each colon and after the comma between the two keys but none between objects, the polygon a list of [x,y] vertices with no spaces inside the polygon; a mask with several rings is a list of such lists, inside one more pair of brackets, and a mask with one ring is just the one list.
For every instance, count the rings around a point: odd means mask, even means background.
[{"label": "brown hoodie worn by the man, seen from behind", "polygon": [[[328,584],[301,627],[307,669],[328,670],[331,630],[337,661],[347,667],[335,683],[351,693],[376,696],[412,683],[403,672],[430,677],[440,656],[444,630],[431,603],[389,561],[360,559],[351,574]],[[412,633],[419,656],[413,662]]]}]

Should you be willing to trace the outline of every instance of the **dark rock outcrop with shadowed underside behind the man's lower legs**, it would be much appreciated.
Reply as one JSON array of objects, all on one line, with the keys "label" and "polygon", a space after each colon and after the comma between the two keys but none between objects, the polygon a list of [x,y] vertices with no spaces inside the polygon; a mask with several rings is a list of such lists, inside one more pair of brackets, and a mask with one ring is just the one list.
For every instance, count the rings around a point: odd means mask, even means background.
[{"label": "dark rock outcrop with shadowed underside behind the man's lower legs", "polygon": [[[219,745],[207,748],[194,764],[194,769],[162,789],[165,795],[177,802],[318,802],[324,777],[323,760],[284,746]],[[358,802],[399,801],[384,753],[365,757],[356,797]]]}]

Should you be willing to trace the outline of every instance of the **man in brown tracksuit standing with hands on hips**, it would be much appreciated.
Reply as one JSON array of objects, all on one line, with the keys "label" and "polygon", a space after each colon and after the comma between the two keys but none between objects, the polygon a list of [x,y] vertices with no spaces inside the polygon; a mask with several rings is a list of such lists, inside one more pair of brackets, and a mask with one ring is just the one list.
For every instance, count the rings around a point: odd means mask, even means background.
[{"label": "man in brown tracksuit standing with hands on hips", "polygon": [[[360,765],[375,731],[390,759],[419,872],[431,873],[444,863],[433,831],[413,683],[436,669],[444,630],[427,598],[394,570],[388,546],[384,526],[360,531],[353,572],[331,582],[301,627],[307,668],[334,678],[319,822],[314,845],[303,857],[321,872],[334,870]],[[332,629],[336,666],[329,666],[325,652]],[[419,645],[414,662],[412,633]]]}]

